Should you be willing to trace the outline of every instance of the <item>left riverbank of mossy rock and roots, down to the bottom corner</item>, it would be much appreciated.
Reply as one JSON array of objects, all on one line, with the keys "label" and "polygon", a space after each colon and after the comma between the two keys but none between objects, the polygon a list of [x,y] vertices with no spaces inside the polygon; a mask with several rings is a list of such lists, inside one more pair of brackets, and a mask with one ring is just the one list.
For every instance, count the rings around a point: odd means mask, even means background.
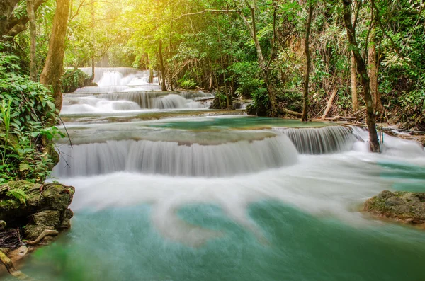
[{"label": "left riverbank of mossy rock and roots, down to the bottom corner", "polygon": [[0,261],[11,275],[25,279],[14,263],[71,227],[74,192],[60,183],[20,180],[0,185]]}]

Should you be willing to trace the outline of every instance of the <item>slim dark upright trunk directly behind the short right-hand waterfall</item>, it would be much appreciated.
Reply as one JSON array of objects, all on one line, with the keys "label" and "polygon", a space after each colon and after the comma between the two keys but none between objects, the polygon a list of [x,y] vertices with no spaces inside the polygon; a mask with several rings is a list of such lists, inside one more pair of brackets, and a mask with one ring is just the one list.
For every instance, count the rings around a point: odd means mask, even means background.
[{"label": "slim dark upright trunk directly behind the short right-hand waterfall", "polygon": [[308,84],[310,82],[310,28],[312,26],[313,6],[311,0],[308,1],[308,16],[305,25],[305,77],[304,77],[304,94],[302,95],[302,122],[308,121]]}]

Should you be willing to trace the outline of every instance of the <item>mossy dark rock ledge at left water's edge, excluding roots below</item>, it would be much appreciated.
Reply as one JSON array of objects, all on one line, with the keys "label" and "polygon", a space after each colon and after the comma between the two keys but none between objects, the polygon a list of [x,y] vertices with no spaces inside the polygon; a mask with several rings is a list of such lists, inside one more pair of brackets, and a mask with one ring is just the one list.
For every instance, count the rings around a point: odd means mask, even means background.
[{"label": "mossy dark rock ledge at left water's edge, excluding roots below", "polygon": [[0,186],[0,221],[6,222],[7,228],[23,229],[22,239],[29,241],[46,230],[68,229],[73,216],[68,207],[74,192],[72,186],[60,183],[6,183]]}]

